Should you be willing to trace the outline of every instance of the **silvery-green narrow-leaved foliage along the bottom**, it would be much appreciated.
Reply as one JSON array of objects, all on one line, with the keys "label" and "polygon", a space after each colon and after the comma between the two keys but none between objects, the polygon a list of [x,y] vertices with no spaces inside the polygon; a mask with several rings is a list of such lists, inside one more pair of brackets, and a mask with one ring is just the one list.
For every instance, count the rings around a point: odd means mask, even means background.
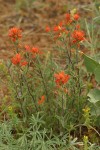
[{"label": "silvery-green narrow-leaved foliage along the bottom", "polygon": [[[81,145],[83,145],[83,143],[77,142],[77,138],[70,138],[69,140],[67,140],[68,134],[55,136],[52,129],[51,131],[47,130],[46,128],[43,129],[42,124],[44,124],[45,122],[40,115],[41,113],[32,115],[29,121],[29,128],[23,128],[23,131],[13,131],[14,124],[12,123],[12,121],[5,121],[4,123],[0,123],[0,149],[78,150],[77,147],[79,145],[81,148]],[[20,124],[20,121],[18,123]],[[14,135],[12,132],[16,132],[16,135]],[[97,146],[89,143],[89,147],[91,149],[95,149]]]}]

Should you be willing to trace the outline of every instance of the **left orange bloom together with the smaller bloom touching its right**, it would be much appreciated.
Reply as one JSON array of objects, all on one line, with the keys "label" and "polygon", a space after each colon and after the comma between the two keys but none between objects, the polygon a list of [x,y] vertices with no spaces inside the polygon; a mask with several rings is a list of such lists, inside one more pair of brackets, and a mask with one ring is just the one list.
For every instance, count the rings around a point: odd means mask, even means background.
[{"label": "left orange bloom together with the smaller bloom touching its right", "polygon": [[14,65],[21,65],[21,66],[26,66],[28,64],[27,61],[22,61],[22,57],[18,53],[11,59],[11,62]]}]

